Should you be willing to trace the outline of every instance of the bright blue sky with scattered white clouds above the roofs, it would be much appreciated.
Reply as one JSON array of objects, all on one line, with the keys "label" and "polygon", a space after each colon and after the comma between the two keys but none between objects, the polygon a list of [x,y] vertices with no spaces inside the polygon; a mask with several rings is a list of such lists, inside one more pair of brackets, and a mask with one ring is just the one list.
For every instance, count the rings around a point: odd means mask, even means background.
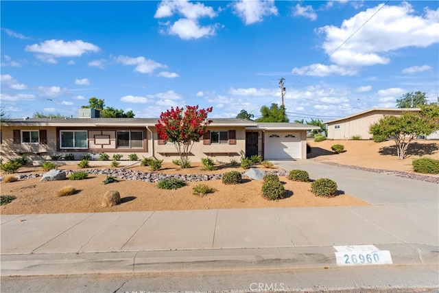
[{"label": "bright blue sky with scattered white clouds above the roofs", "polygon": [[1,1],[1,109],[158,117],[281,104],[328,121],[439,95],[438,1]]}]

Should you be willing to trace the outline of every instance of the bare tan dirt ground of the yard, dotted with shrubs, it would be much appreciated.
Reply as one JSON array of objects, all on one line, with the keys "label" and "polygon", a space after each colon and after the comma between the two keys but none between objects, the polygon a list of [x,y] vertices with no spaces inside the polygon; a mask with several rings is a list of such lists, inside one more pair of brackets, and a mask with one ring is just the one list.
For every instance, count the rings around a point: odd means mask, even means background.
[{"label": "bare tan dirt ground of the yard, dotted with shrubs", "polygon": [[[415,148],[410,149],[409,158],[397,159],[392,148],[392,141],[374,143],[372,141],[309,141],[312,152],[309,158],[326,163],[355,165],[373,169],[391,169],[412,172],[412,159],[418,157],[414,152],[422,153],[434,159],[439,158],[439,145],[432,141],[417,141]],[[340,143],[346,152],[334,154],[331,145]],[[213,172],[204,171],[200,164],[193,163],[189,169],[180,169],[171,163],[163,164],[159,172],[163,174],[221,174],[231,170],[245,171],[240,167],[218,165]],[[108,167],[105,163],[93,169]],[[256,167],[263,169],[261,165]],[[58,169],[77,170],[76,165],[64,165]],[[91,169],[91,168],[90,168]],[[132,166],[128,170],[150,172],[148,167]],[[265,169],[269,171],[270,169]],[[21,167],[17,174],[42,174],[41,167]],[[5,176],[1,174],[1,176]],[[8,175],[9,176],[9,175]],[[240,185],[224,185],[221,180],[202,182],[216,189],[213,194],[195,196],[192,189],[200,183],[188,183],[176,190],[159,189],[156,183],[143,181],[121,180],[104,185],[106,176],[90,175],[85,180],[60,180],[40,182],[40,178],[29,178],[13,183],[0,183],[1,195],[16,196],[16,199],[1,206],[2,214],[27,213],[88,213],[110,211],[158,211],[158,210],[188,210],[188,209],[237,209],[257,207],[332,207],[367,205],[355,195],[343,194],[333,198],[314,196],[309,189],[311,183],[297,183],[281,177],[287,198],[283,200],[265,200],[261,195],[262,182],[244,178]],[[311,178],[316,179],[316,178]],[[66,186],[73,186],[77,191],[71,196],[57,197],[56,192]],[[102,198],[108,190],[117,190],[121,194],[121,204],[115,207],[102,207]]]}]

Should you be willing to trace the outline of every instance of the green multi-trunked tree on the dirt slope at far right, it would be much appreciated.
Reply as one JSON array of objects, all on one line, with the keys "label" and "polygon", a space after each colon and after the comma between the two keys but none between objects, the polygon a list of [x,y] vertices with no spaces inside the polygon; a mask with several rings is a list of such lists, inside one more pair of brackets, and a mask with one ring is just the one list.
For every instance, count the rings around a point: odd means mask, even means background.
[{"label": "green multi-trunked tree on the dirt slope at far right", "polygon": [[415,113],[404,113],[401,116],[384,116],[369,128],[374,136],[391,137],[396,143],[398,158],[403,160],[407,148],[419,135],[429,135],[438,129],[433,119]]}]

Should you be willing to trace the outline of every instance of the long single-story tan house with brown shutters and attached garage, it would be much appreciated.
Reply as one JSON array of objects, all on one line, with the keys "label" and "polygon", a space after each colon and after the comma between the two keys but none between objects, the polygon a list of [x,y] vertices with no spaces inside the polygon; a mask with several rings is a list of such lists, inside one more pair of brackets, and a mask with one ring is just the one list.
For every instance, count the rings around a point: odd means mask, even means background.
[{"label": "long single-story tan house with brown shutters and attached garage", "polygon": [[[316,126],[290,123],[257,123],[245,119],[212,119],[189,159],[209,156],[217,161],[239,161],[241,156],[261,154],[266,160],[307,159],[307,131]],[[9,119],[1,123],[1,157],[25,154],[31,160],[52,155],[106,153],[137,154],[171,161],[178,159],[173,143],[156,132],[158,119],[67,118]]]}]

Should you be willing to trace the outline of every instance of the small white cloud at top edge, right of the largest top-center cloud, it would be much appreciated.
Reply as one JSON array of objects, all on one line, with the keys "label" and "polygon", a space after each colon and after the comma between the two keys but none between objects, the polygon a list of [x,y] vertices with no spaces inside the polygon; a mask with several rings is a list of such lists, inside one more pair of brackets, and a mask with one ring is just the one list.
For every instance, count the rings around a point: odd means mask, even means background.
[{"label": "small white cloud at top edge, right of the largest top-center cloud", "polygon": [[233,3],[233,8],[246,25],[261,22],[264,16],[278,15],[274,0],[239,0]]}]

